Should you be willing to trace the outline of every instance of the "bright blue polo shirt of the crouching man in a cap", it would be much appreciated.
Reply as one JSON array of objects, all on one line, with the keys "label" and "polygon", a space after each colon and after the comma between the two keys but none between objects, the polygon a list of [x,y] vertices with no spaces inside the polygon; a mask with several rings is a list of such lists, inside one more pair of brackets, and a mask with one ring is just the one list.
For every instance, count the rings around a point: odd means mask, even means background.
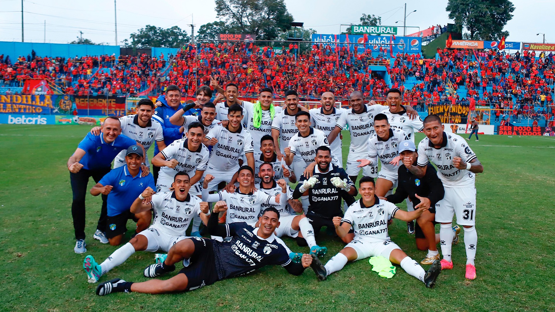
[{"label": "bright blue polo shirt of the crouching man in a cap", "polygon": [[141,177],[142,170],[133,178],[129,173],[127,165],[110,170],[98,182],[104,186],[112,185],[112,192],[108,194],[108,216],[113,217],[124,212],[128,212],[131,205],[141,193],[150,187],[156,189],[154,177],[149,173],[146,177]]}]

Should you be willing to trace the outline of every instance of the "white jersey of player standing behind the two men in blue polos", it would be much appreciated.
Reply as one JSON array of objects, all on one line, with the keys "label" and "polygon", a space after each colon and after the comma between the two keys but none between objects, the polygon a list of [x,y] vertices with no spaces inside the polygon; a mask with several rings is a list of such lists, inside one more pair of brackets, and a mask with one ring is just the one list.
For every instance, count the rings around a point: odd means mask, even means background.
[{"label": "white jersey of player standing behind the two men in blue polos", "polygon": [[[137,143],[143,144],[144,151],[147,152],[148,148],[154,140],[157,142],[164,140],[164,132],[162,125],[157,120],[150,118],[147,127],[140,127],[139,125],[139,115],[127,115],[119,118],[122,123],[122,134],[127,135],[127,137],[134,139]],[[125,162],[126,150],[122,150],[114,160],[114,168],[122,167]],[[148,162],[148,153],[144,155],[144,163],[150,166]]]}]

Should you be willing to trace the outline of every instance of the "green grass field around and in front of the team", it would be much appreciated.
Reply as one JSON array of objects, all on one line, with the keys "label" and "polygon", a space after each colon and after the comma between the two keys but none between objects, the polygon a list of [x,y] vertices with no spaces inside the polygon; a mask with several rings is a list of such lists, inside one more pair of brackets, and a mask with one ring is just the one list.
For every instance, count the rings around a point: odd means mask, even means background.
[{"label": "green grass field around and in front of the team", "polygon": [[[480,142],[470,142],[485,167],[476,183],[476,280],[464,278],[461,240],[453,246],[455,268],[440,275],[435,289],[426,289],[401,268],[392,279],[380,278],[361,260],[323,282],[310,269],[292,276],[276,266],[190,293],[99,297],[82,268],[85,254],[73,252],[72,192],[65,165],[89,129],[0,125],[1,311],[555,310],[553,138],[482,135]],[[344,137],[348,146],[349,135]],[[417,140],[422,137],[419,133]],[[88,196],[87,254],[101,262],[115,248],[92,238],[99,210],[100,197]],[[415,260],[425,256],[406,233],[405,222],[393,222],[390,235]],[[289,238],[284,241],[294,251],[308,251]],[[324,263],[342,248],[325,234],[317,241],[329,248]],[[102,280],[144,281],[143,269],[153,259],[151,253],[135,253]]]}]

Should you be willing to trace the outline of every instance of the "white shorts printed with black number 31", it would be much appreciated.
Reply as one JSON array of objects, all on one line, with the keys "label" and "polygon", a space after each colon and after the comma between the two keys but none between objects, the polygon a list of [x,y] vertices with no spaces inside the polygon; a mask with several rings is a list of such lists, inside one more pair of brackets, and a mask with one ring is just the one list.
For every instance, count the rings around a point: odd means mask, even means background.
[{"label": "white shorts printed with black number 31", "polygon": [[436,222],[453,222],[457,216],[458,225],[476,224],[476,187],[450,188],[443,186],[445,195],[436,204]]}]

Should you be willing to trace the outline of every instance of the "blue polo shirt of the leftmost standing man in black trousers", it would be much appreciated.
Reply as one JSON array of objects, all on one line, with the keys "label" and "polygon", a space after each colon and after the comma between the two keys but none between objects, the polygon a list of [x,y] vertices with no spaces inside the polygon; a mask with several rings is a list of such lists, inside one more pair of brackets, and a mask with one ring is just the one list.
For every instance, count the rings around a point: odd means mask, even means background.
[{"label": "blue polo shirt of the leftmost standing man in black trousers", "polygon": [[94,135],[87,133],[87,136],[79,143],[78,148],[84,150],[85,155],[79,163],[83,164],[83,169],[106,169],[112,167],[112,161],[122,150],[126,150],[131,145],[135,145],[134,139],[130,139],[123,134],[118,135],[114,142],[104,142],[104,134]]}]

